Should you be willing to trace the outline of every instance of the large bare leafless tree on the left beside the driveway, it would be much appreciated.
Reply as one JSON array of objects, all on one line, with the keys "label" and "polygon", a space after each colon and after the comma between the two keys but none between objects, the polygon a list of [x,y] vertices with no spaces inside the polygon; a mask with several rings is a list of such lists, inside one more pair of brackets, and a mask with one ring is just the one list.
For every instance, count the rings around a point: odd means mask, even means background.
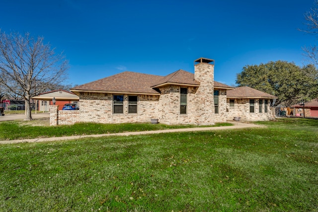
[{"label": "large bare leafless tree on the left beside the driveway", "polygon": [[67,77],[68,61],[43,41],[43,37],[34,39],[29,33],[0,31],[0,84],[23,96],[26,120],[32,120],[30,98]]}]

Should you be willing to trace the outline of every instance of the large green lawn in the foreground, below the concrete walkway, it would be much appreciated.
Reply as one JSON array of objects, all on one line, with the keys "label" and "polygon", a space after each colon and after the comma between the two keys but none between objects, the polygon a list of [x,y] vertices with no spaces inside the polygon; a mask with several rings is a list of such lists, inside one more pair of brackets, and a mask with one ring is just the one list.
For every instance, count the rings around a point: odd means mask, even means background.
[{"label": "large green lawn in the foreground, below the concrete walkway", "polygon": [[259,124],[0,145],[0,211],[318,211],[318,120]]}]

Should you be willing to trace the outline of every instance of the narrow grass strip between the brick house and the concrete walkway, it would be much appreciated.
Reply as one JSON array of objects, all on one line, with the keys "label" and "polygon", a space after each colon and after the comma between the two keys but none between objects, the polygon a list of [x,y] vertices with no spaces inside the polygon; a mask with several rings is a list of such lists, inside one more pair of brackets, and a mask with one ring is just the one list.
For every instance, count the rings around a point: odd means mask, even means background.
[{"label": "narrow grass strip between the brick house and the concrete walkway", "polygon": [[[27,122],[26,121],[0,122],[0,129],[1,129],[0,141],[198,127],[195,125],[163,125],[163,124],[154,125],[154,124],[140,124],[140,123],[127,123],[127,124],[78,123],[74,125],[34,126],[34,125],[37,125],[39,121],[41,120],[32,120]],[[48,120],[44,120],[44,121],[47,122]],[[43,123],[43,122],[40,122],[40,123]],[[232,124],[217,123],[216,125],[213,125],[213,126],[214,127],[232,126]]]}]

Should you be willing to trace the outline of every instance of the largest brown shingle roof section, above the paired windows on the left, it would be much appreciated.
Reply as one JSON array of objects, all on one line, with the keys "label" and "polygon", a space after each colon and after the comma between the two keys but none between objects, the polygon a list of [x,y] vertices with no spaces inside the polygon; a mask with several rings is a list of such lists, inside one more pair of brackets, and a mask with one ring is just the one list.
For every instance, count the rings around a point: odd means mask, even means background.
[{"label": "largest brown shingle roof section, above the paired windows on the left", "polygon": [[152,89],[154,81],[159,81],[163,76],[136,73],[131,71],[121,72],[96,81],[88,82],[71,88],[74,93],[79,92],[104,92],[104,93],[138,93],[159,94]]}]

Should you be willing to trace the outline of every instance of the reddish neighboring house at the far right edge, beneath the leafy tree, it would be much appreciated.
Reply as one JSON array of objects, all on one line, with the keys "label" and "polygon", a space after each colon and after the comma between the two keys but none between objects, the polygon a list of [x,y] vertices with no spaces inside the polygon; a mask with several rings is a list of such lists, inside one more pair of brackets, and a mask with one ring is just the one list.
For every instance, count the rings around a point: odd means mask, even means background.
[{"label": "reddish neighboring house at the far right edge, beneath the leafy tree", "polygon": [[305,110],[305,117],[318,117],[318,99],[312,99],[311,101],[306,102],[305,105],[293,105],[291,108],[294,110],[294,116],[304,116]]}]

